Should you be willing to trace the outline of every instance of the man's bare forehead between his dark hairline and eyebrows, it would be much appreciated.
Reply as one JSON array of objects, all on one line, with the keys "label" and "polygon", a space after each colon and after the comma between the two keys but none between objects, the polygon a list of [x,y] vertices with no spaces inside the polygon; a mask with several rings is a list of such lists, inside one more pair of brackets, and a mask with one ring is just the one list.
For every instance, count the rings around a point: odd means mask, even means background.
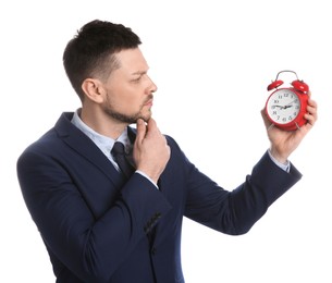
[{"label": "man's bare forehead between his dark hairline and eyebrows", "polygon": [[116,53],[120,69],[130,73],[146,72],[148,64],[139,48],[126,49]]}]

